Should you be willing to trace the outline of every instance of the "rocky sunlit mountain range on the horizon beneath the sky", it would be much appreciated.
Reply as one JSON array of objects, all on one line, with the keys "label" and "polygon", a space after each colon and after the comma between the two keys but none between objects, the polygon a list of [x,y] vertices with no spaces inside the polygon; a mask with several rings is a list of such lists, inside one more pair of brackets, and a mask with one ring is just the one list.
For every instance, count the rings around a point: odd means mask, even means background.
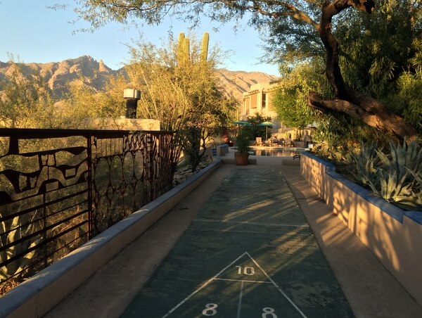
[{"label": "rocky sunlit mountain range on the horizon beneath the sky", "polygon": [[[0,61],[0,80],[7,79],[13,72],[22,72],[23,75],[40,75],[51,89],[54,98],[60,99],[68,91],[67,84],[72,81],[83,80],[85,84],[100,90],[108,81],[110,75],[123,72],[123,68],[112,70],[91,56],[70,58],[61,62],[51,63],[13,63]],[[239,102],[243,101],[243,93],[249,91],[253,84],[271,82],[277,77],[264,72],[245,72],[218,69],[217,75],[220,87],[224,93],[233,96]],[[0,87],[1,91],[1,87]]]}]

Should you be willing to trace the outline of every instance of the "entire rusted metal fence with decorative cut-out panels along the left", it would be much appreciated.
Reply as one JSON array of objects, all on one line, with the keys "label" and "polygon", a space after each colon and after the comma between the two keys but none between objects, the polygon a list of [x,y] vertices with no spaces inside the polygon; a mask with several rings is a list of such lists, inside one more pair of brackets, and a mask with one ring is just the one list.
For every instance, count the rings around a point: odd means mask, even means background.
[{"label": "entire rusted metal fence with decorative cut-out panels along the left", "polygon": [[172,136],[0,129],[0,295],[168,191]]}]

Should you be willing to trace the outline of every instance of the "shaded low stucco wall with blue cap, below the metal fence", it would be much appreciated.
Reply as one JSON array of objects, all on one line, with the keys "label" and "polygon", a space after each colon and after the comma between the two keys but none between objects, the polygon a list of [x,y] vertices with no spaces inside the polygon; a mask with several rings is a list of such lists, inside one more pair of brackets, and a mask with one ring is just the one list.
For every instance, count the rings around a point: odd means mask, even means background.
[{"label": "shaded low stucco wall with blue cap, below the metal fence", "polygon": [[185,182],[143,206],[63,259],[0,297],[0,317],[41,317],[60,303],[221,165],[216,159]]}]

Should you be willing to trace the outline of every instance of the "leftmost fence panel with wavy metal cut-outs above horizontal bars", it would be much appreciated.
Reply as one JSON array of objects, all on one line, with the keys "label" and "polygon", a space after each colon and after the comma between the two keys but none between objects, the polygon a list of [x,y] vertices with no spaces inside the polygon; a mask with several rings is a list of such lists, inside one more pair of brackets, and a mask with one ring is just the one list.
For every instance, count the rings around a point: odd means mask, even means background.
[{"label": "leftmost fence panel with wavy metal cut-outs above horizontal bars", "polygon": [[32,133],[1,143],[0,280],[12,286],[88,238],[86,138]]}]

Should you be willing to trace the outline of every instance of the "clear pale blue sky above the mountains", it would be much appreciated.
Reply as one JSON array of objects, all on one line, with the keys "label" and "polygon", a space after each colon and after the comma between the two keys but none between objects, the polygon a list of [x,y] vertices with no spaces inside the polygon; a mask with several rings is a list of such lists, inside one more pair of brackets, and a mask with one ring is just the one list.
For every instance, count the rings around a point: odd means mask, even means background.
[{"label": "clear pale blue sky above the mountains", "polygon": [[[46,8],[66,2],[70,8],[64,11]],[[75,32],[89,25],[84,21],[70,23],[77,18],[71,6],[70,0],[0,0],[0,61],[8,61],[10,54],[15,61],[24,63],[58,62],[89,55],[97,61],[102,59],[114,70],[120,68],[129,58],[125,44],[139,39],[139,30],[134,27],[124,30],[122,25],[112,23],[94,33]],[[188,25],[167,18],[162,25],[142,27],[142,37],[159,45],[167,39],[170,27],[176,36],[179,32],[188,33]],[[194,32],[198,37],[209,32],[210,46],[217,44],[222,50],[233,53],[219,67],[279,74],[276,65],[260,63],[264,51],[256,30],[245,26],[244,30],[234,33],[233,25],[224,25],[215,32],[212,27],[217,25],[203,22]]]}]

